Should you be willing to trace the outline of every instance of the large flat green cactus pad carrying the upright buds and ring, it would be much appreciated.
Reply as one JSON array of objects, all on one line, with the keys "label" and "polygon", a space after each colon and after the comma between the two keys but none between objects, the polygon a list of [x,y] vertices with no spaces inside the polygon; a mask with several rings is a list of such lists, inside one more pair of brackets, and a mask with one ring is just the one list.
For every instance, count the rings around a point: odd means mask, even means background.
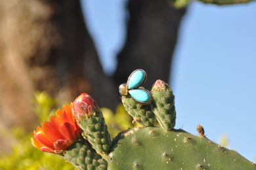
[{"label": "large flat green cactus pad carrying the upright buds and ring", "polygon": [[181,129],[135,127],[117,135],[108,169],[256,169],[234,150]]}]

